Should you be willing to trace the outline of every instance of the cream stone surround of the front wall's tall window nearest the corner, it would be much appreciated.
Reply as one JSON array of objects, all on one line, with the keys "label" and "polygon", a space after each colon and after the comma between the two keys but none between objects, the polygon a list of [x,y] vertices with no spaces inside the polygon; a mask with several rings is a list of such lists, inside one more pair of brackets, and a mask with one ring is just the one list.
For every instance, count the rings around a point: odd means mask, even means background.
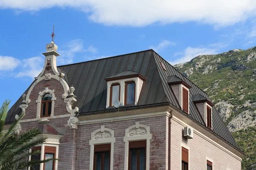
[{"label": "cream stone surround of the front wall's tall window nearest the corner", "polygon": [[149,170],[149,150],[150,150],[150,139],[152,138],[150,133],[150,127],[140,124],[140,122],[135,122],[125,129],[125,170],[128,170],[128,159],[129,159],[129,142],[130,141],[141,141],[146,140],[146,170]]}]

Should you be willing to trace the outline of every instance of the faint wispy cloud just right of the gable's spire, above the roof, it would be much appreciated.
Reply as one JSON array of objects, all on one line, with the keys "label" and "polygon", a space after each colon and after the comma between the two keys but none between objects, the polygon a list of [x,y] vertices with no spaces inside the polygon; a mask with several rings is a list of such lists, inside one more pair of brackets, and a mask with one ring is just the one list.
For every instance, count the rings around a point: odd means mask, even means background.
[{"label": "faint wispy cloud just right of the gable's spire, above the roof", "polygon": [[64,50],[57,51],[61,54],[57,59],[57,65],[65,65],[73,63],[73,58],[75,57],[76,53],[81,52],[90,52],[90,53],[97,53],[98,50],[93,45],[89,45],[87,49],[84,49],[84,42],[80,39],[72,40],[64,45]]}]

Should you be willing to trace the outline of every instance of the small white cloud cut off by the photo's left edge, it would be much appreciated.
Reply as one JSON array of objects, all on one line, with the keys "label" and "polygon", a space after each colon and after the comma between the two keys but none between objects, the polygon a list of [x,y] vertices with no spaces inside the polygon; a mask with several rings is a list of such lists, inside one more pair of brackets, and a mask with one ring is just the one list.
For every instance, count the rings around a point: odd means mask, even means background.
[{"label": "small white cloud cut off by the photo's left edge", "polygon": [[20,64],[14,57],[0,56],[0,71],[13,71]]}]

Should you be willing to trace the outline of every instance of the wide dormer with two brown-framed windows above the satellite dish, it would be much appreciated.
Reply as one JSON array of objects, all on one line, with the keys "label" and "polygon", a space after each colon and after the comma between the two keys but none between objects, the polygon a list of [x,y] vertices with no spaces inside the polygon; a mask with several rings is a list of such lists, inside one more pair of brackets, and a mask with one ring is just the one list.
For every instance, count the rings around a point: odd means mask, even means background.
[{"label": "wide dormer with two brown-framed windows above the satellite dish", "polygon": [[107,77],[105,80],[108,84],[106,105],[106,108],[108,108],[112,107],[117,100],[120,102],[121,106],[137,105],[146,78],[134,71],[124,71],[111,77]]}]

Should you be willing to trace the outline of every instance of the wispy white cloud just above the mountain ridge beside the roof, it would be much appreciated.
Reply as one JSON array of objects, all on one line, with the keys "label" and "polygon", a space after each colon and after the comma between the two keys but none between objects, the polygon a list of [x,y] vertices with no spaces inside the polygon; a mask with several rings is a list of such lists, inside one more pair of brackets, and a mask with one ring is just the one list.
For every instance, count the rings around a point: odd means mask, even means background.
[{"label": "wispy white cloud just above the mountain ridge beside the roof", "polygon": [[182,55],[182,57],[175,59],[174,61],[171,61],[171,65],[175,64],[180,64],[183,62],[188,62],[191,59],[193,59],[196,56],[199,55],[206,55],[206,54],[218,54],[218,48],[192,48],[192,47],[187,47],[184,52],[178,52],[175,53],[174,56]]}]

